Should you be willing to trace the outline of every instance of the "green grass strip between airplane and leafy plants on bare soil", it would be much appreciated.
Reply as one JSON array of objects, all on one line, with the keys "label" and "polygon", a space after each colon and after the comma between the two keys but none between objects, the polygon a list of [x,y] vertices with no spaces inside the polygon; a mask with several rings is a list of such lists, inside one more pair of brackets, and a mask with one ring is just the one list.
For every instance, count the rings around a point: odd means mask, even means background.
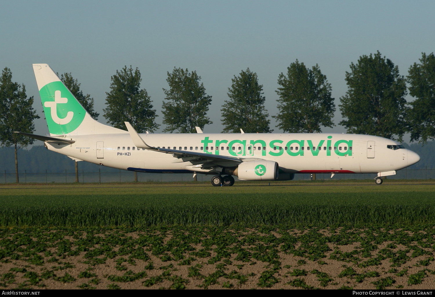
[{"label": "green grass strip between airplane and leafy plants on bare soil", "polygon": [[3,227],[434,224],[428,181],[5,185]]}]

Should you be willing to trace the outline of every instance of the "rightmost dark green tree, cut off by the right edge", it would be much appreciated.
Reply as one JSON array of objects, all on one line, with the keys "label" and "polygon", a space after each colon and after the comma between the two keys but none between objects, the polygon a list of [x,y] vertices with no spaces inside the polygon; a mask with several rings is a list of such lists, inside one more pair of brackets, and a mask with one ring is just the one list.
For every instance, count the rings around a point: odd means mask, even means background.
[{"label": "rightmost dark green tree, cut off by the right edge", "polygon": [[409,103],[407,121],[411,141],[435,139],[435,56],[422,53],[421,64],[409,67],[409,94],[416,99]]}]

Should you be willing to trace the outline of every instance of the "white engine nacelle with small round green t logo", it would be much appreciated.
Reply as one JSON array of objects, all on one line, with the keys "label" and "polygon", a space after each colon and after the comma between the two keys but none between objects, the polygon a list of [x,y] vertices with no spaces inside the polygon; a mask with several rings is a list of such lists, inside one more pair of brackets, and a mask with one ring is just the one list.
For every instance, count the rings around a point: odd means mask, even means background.
[{"label": "white engine nacelle with small round green t logo", "polygon": [[275,181],[278,178],[278,163],[255,160],[238,166],[238,178],[243,181]]}]

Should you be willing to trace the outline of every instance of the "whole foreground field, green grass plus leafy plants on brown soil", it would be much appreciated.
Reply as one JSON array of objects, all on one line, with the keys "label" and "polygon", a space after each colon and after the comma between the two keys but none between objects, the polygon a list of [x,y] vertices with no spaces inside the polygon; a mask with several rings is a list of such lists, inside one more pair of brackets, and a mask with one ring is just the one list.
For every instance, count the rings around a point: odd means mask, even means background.
[{"label": "whole foreground field, green grass plus leafy plants on brown soil", "polygon": [[435,288],[435,181],[3,185],[0,287]]}]

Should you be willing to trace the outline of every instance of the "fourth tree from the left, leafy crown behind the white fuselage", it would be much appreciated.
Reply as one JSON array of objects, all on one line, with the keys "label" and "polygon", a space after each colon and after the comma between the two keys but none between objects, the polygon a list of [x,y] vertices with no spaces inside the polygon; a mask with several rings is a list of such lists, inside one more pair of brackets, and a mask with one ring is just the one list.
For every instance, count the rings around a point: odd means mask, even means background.
[{"label": "fourth tree from the left, leafy crown behind the white fuselage", "polygon": [[211,96],[205,93],[201,76],[196,71],[189,73],[186,69],[175,68],[167,72],[169,89],[163,89],[168,102],[163,102],[163,132],[196,133],[195,126],[204,129],[204,125],[212,124],[206,116]]}]

